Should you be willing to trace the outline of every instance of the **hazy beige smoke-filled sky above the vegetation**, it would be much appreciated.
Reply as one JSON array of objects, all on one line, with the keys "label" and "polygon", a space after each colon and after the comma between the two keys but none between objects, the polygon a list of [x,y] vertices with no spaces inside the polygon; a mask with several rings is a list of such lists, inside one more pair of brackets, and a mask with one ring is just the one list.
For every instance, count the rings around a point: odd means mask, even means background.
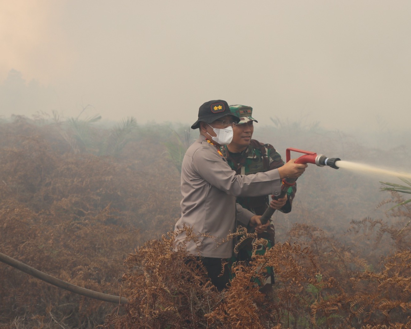
[{"label": "hazy beige smoke-filled sky above the vegetation", "polygon": [[223,99],[263,124],[409,129],[410,17],[409,0],[0,0],[0,117],[191,125]]}]

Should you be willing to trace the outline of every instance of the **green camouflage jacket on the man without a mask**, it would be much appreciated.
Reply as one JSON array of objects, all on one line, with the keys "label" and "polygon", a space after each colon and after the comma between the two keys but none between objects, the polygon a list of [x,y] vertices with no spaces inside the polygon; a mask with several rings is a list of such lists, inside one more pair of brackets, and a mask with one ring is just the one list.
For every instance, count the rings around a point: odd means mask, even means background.
[{"label": "green camouflage jacket on the man without a mask", "polygon": [[[241,175],[265,172],[284,165],[281,155],[275,151],[274,146],[260,143],[256,139],[252,139],[248,148],[241,153],[229,152],[226,145],[221,147],[221,151],[231,169]],[[282,209],[280,209],[283,213],[289,213],[291,211],[296,190],[297,187],[294,185],[287,191],[287,202]],[[262,215],[268,208],[270,201],[271,199],[268,195],[262,195],[261,197],[237,197],[239,204],[256,215]]]}]

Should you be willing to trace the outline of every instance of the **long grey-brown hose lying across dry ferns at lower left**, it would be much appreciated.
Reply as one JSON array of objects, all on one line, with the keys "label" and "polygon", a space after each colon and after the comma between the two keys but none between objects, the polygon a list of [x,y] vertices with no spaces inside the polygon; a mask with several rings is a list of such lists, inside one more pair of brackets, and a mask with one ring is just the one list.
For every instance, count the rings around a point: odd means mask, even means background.
[{"label": "long grey-brown hose lying across dry ferns at lower left", "polygon": [[47,283],[50,283],[51,285],[55,285],[56,287],[74,292],[75,294],[79,294],[85,297],[90,297],[93,299],[99,299],[101,301],[108,301],[109,303],[114,303],[114,304],[127,304],[128,303],[128,300],[125,297],[103,294],[102,292],[96,292],[96,291],[85,289],[85,288],[82,288],[76,285],[72,285],[71,283],[64,282],[60,279],[54,278],[53,276],[50,276],[39,270],[33,269],[32,267],[26,264],[23,264],[22,262],[19,262],[18,260],[12,257],[9,257],[5,254],[2,254],[2,253],[0,253],[0,261],[10,266],[13,266],[14,268],[19,269],[20,271],[23,271],[24,273],[30,274],[31,276],[34,276],[35,278],[38,278]]}]

